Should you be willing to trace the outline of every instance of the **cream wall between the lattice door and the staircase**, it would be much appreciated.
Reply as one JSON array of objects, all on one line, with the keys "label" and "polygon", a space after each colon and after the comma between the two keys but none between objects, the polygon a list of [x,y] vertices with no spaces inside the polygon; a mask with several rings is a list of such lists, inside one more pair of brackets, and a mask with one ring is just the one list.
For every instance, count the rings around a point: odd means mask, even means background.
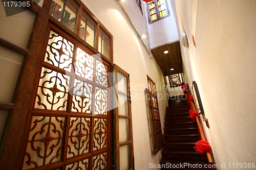
[{"label": "cream wall between the lattice door and the staircase", "polygon": [[[161,157],[159,153],[153,156],[151,149],[150,129],[144,98],[144,89],[147,87],[146,75],[150,76],[156,84],[164,85],[163,73],[155,59],[150,58],[136,32],[114,0],[94,0],[93,2],[83,0],[82,2],[113,35],[114,63],[130,74],[135,168],[146,170],[151,162],[159,164]],[[125,3],[129,4],[125,5]],[[123,6],[127,13],[131,13],[133,11],[131,9],[138,10],[135,11],[136,14],[131,14],[130,18],[136,26],[136,30],[144,33],[146,31],[145,22],[140,16],[141,13],[137,4],[133,1],[125,1]],[[129,8],[131,9],[129,10]],[[157,93],[164,96],[165,89],[158,88]],[[158,102],[163,127],[167,99]]]}]

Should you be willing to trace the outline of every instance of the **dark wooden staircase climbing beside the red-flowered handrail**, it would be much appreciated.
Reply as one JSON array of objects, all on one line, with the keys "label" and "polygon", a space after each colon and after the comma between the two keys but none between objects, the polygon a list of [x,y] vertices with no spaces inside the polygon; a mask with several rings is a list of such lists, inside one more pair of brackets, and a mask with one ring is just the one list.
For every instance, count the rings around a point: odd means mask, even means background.
[{"label": "dark wooden staircase climbing beside the red-flowered handrail", "polygon": [[[172,164],[172,169],[207,169],[199,168],[207,164],[207,157],[200,155],[193,148],[199,140],[197,123],[193,123],[189,117],[189,105],[183,99],[181,96],[169,99],[169,107],[166,108],[162,169],[170,169],[166,168],[167,166],[164,168],[163,164]],[[184,163],[187,166],[184,167]],[[174,165],[179,168],[173,168]],[[183,165],[183,168],[180,165]]]}]

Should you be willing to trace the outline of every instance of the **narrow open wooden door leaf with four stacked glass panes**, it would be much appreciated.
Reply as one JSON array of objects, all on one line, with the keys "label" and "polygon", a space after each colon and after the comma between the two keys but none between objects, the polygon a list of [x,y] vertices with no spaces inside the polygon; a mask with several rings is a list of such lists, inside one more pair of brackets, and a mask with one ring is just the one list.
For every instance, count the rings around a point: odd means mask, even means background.
[{"label": "narrow open wooden door leaf with four stacked glass panes", "polygon": [[130,98],[130,76],[116,64],[114,84],[116,94],[115,122],[115,169],[134,169],[132,109]]}]

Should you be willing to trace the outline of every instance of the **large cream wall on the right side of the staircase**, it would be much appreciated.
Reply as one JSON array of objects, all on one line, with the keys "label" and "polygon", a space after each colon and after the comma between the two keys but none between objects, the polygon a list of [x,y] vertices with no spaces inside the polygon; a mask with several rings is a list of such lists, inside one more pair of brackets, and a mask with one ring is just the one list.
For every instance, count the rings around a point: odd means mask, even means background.
[{"label": "large cream wall on the right side of the staircase", "polygon": [[198,84],[218,169],[255,162],[256,1],[170,1],[179,37],[187,34],[189,47],[181,45],[184,75],[190,85]]}]

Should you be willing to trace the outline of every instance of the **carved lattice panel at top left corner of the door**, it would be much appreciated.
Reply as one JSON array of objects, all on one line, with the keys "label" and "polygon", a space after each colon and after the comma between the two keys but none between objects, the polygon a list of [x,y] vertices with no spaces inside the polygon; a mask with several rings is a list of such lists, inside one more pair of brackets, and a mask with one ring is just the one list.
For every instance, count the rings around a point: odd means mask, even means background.
[{"label": "carved lattice panel at top left corner of the door", "polygon": [[73,43],[51,31],[47,45],[45,62],[67,71],[71,71],[73,51]]}]

